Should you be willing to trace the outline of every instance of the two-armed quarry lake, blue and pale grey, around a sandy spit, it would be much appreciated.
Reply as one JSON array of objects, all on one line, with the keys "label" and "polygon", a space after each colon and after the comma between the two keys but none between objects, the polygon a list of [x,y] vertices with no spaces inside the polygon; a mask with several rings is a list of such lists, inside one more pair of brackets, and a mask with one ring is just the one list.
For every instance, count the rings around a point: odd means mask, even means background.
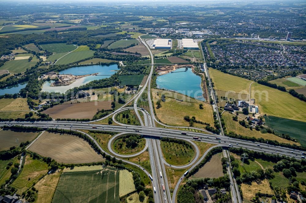
[{"label": "two-armed quarry lake, blue and pale grey, around a sandy spit", "polygon": [[113,64],[110,66],[106,65],[92,65],[92,66],[76,66],[69,69],[65,69],[59,72],[59,74],[73,74],[73,75],[87,75],[87,74],[93,74],[93,73],[99,73],[99,76],[86,76],[82,77],[80,79],[75,80],[72,84],[67,86],[58,86],[58,87],[50,87],[50,84],[54,81],[46,81],[44,82],[42,86],[42,91],[46,92],[60,92],[65,93],[65,91],[73,88],[73,87],[79,87],[81,85],[87,84],[92,80],[99,80],[103,78],[108,78],[110,75],[113,75],[116,73],[116,71],[112,70],[118,70],[118,65]]}]

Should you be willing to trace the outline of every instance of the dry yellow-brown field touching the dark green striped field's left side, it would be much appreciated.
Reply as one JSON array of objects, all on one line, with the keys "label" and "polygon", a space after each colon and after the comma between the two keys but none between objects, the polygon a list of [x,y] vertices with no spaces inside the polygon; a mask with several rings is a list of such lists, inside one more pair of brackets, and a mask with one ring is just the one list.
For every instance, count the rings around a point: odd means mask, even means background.
[{"label": "dry yellow-brown field touching the dark green striped field's left side", "polygon": [[52,202],[52,197],[55,192],[58,180],[61,174],[57,171],[46,175],[35,184],[35,188],[38,190],[37,199],[35,202],[49,203]]}]

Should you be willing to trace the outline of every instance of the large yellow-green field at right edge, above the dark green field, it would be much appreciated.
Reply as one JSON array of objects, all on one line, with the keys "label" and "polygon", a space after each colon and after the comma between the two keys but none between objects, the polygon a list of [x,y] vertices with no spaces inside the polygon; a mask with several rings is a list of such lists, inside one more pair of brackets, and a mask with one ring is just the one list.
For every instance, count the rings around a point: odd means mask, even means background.
[{"label": "large yellow-green field at right edge, above the dark green field", "polygon": [[305,102],[287,92],[253,83],[251,98],[259,107],[259,113],[298,121],[306,120]]}]

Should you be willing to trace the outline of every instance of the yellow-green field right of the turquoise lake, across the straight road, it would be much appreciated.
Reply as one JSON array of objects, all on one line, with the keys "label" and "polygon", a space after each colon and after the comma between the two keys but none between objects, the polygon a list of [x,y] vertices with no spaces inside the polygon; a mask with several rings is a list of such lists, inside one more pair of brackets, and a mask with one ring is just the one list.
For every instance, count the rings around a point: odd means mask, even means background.
[{"label": "yellow-green field right of the turquoise lake, across the straight road", "polygon": [[252,83],[241,77],[233,76],[230,74],[222,73],[219,70],[209,68],[210,77],[215,84],[216,90],[234,91],[241,94],[249,94],[249,87]]}]

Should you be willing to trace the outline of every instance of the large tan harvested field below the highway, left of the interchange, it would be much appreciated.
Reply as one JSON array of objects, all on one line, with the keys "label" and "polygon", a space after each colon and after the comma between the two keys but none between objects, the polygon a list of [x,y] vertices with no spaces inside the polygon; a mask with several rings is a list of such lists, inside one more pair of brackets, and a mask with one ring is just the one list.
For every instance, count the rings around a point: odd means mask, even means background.
[{"label": "large tan harvested field below the highway, left of the interchange", "polygon": [[88,142],[68,134],[44,132],[29,150],[51,157],[58,163],[92,163],[105,160]]}]

